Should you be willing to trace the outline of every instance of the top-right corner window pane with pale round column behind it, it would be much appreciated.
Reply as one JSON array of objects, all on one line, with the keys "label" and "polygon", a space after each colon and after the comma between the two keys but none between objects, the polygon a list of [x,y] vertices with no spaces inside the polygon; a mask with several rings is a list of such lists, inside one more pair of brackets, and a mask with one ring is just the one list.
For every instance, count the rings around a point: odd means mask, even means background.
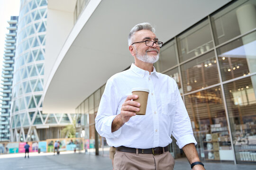
[{"label": "top-right corner window pane with pale round column behind it", "polygon": [[256,27],[255,5],[255,0],[237,0],[210,17],[216,45]]}]

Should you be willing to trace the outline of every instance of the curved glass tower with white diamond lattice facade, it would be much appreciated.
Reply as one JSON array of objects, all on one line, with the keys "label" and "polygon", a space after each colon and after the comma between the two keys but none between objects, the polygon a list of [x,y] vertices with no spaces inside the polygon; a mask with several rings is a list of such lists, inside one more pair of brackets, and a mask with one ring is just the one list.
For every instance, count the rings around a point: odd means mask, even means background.
[{"label": "curved glass tower with white diamond lattice facade", "polygon": [[11,141],[61,137],[66,113],[42,113],[47,0],[21,0],[11,104]]}]

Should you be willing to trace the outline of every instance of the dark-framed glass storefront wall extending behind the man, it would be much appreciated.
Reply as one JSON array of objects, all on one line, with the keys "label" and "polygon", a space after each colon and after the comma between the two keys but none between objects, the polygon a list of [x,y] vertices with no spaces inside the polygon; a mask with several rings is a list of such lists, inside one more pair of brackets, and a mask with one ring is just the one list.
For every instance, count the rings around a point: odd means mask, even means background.
[{"label": "dark-framed glass storefront wall extending behind the man", "polygon": [[[203,161],[256,164],[255,47],[256,1],[234,0],[161,48],[155,68],[176,81]],[[104,85],[76,109],[85,138],[91,149],[99,144],[100,154],[107,144],[94,119],[103,91]],[[171,153],[183,155],[175,140]]]}]

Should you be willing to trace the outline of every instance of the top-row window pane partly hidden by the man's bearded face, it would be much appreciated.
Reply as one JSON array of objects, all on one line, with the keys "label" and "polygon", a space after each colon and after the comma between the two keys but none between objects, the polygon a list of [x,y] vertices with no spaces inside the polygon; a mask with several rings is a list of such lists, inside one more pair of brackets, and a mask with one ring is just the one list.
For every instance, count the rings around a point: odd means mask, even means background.
[{"label": "top-row window pane partly hidden by the man's bearded face", "polygon": [[159,60],[154,64],[158,72],[163,72],[178,64],[175,41],[168,42],[160,50]]}]

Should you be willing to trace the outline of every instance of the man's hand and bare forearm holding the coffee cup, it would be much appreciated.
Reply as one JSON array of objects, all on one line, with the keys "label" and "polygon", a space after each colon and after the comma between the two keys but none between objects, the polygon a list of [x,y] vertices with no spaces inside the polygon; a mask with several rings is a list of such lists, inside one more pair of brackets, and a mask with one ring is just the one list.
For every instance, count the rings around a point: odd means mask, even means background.
[{"label": "man's hand and bare forearm holding the coffee cup", "polygon": [[125,102],[122,104],[121,112],[116,116],[116,118],[112,122],[111,130],[112,132],[118,130],[122,127],[128,120],[135,116],[136,113],[134,111],[139,111],[139,102],[131,101],[137,99],[137,95],[128,95]]}]

